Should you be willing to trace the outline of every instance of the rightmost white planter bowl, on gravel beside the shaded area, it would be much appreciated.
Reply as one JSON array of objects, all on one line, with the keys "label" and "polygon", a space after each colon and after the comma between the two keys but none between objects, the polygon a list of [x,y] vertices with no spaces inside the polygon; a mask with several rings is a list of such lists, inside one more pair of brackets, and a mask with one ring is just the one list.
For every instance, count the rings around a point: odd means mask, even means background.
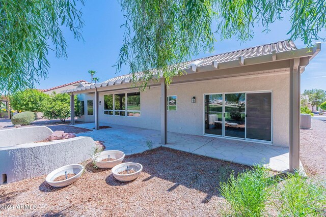
[{"label": "rightmost white planter bowl, on gravel beside the shaded area", "polygon": [[[119,172],[126,170],[127,166],[129,166],[129,170],[132,169],[136,172],[130,174],[119,174]],[[143,170],[143,165],[139,163],[128,162],[128,163],[119,164],[114,168],[112,168],[112,174],[119,181],[131,181],[133,179],[136,179],[141,174],[142,170]]]}]

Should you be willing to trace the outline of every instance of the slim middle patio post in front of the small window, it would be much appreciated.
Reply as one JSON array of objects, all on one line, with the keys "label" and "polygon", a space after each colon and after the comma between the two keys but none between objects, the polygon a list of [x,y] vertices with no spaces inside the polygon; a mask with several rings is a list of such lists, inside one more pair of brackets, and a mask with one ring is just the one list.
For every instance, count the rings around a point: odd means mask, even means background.
[{"label": "slim middle patio post in front of the small window", "polygon": [[167,84],[165,79],[161,82],[161,144],[167,144]]}]

